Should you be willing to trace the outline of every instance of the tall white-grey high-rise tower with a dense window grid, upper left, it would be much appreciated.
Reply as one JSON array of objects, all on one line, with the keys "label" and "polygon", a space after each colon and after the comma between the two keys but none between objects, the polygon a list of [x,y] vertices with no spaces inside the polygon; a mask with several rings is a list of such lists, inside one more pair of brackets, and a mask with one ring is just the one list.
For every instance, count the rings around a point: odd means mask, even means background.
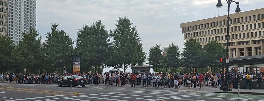
[{"label": "tall white-grey high-rise tower with a dense window grid, upper left", "polygon": [[36,29],[36,0],[8,0],[8,35],[15,44],[29,28]]}]

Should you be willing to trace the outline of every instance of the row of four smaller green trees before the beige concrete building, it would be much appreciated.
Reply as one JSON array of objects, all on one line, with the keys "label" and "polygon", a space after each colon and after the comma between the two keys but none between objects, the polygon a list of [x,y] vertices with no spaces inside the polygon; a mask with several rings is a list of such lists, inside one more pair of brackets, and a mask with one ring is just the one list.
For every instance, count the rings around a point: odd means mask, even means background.
[{"label": "row of four smaller green trees before the beige concrete building", "polygon": [[[225,49],[221,43],[210,41],[203,48],[195,39],[190,39],[184,43],[183,52],[174,43],[169,45],[166,56],[162,56],[160,45],[156,44],[149,53],[148,64],[153,65],[154,71],[168,68],[170,72],[178,71],[179,67],[184,67],[182,72],[192,71],[190,68],[221,67],[221,63],[216,60],[225,56]],[[175,68],[173,70],[173,68]],[[208,69],[198,69],[206,72]],[[162,70],[165,71],[165,70]]]}]

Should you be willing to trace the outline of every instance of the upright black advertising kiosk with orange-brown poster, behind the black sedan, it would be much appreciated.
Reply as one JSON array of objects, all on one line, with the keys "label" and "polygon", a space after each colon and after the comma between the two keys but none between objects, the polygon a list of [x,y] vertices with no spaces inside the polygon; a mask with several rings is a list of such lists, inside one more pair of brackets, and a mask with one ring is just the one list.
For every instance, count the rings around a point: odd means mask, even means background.
[{"label": "upright black advertising kiosk with orange-brown poster, behind the black sedan", "polygon": [[81,73],[81,55],[72,55],[72,75]]}]

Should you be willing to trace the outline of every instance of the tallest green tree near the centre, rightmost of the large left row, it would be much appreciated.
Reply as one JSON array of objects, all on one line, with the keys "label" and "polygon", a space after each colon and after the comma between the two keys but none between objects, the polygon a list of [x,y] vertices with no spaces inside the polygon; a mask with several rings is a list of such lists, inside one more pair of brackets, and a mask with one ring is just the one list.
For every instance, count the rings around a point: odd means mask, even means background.
[{"label": "tallest green tree near the centre, rightmost of the large left row", "polygon": [[111,58],[109,58],[109,65],[114,68],[122,68],[124,72],[129,65],[141,65],[146,58],[145,51],[141,43],[141,38],[136,31],[136,26],[130,19],[119,18],[116,20],[116,28],[110,31],[112,41]]}]

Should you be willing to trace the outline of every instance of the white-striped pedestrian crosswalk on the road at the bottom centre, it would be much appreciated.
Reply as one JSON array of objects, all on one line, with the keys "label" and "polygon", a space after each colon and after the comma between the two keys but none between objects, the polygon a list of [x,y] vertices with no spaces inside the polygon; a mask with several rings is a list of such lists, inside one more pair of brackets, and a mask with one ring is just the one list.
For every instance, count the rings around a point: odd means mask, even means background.
[{"label": "white-striped pedestrian crosswalk on the road at the bottom centre", "polygon": [[151,91],[130,91],[130,92],[108,92],[90,95],[78,95],[71,97],[60,97],[47,100],[37,101],[211,101],[212,98],[204,98],[205,95],[215,95],[215,93],[204,92],[185,92],[185,91],[170,91],[170,90],[151,90]]}]

